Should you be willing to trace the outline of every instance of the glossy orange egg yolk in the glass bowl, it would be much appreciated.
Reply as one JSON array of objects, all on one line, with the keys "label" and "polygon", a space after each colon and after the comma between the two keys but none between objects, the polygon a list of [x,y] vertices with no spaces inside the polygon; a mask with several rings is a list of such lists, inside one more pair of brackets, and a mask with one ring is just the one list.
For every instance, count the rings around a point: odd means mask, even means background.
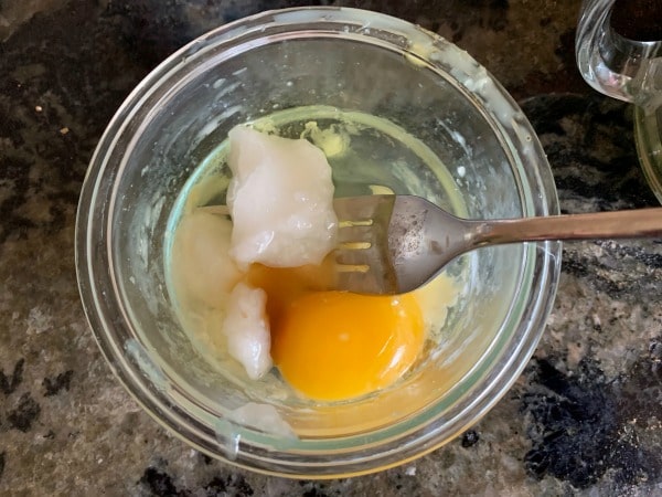
[{"label": "glossy orange egg yolk in the glass bowl", "polygon": [[252,283],[267,293],[271,358],[301,394],[338,401],[384,389],[416,361],[425,339],[413,295],[319,290],[313,268],[257,266]]}]

